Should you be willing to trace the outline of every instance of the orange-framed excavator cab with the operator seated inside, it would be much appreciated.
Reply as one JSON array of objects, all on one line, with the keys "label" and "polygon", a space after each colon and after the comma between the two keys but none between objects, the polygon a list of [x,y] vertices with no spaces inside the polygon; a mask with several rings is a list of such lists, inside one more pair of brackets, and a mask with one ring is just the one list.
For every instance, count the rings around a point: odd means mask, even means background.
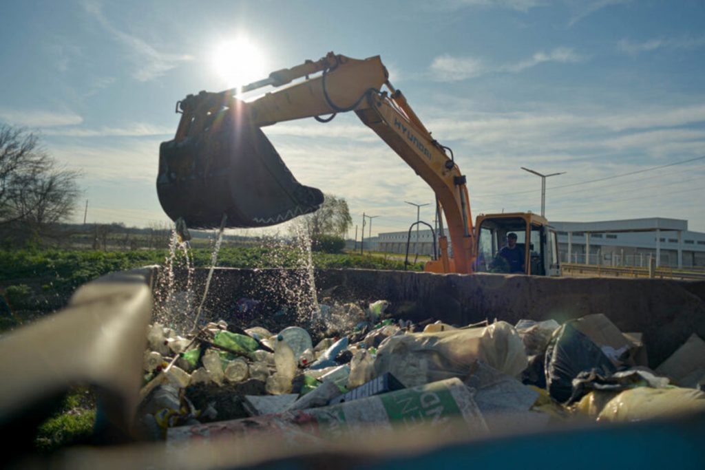
[{"label": "orange-framed excavator cab with the operator seated inside", "polygon": [[507,235],[515,233],[517,248],[525,256],[523,274],[560,276],[556,231],[545,218],[531,213],[482,215],[477,217],[475,227],[475,272],[510,273],[507,261],[499,252],[507,244]]}]

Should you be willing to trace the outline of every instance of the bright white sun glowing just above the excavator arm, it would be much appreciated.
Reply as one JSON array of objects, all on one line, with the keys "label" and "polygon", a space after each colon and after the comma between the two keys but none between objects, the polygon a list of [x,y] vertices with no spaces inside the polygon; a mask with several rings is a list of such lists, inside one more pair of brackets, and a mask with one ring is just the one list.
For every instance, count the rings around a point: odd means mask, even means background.
[{"label": "bright white sun glowing just above the excavator arm", "polygon": [[267,75],[261,49],[244,37],[221,43],[212,61],[228,88],[247,85]]}]

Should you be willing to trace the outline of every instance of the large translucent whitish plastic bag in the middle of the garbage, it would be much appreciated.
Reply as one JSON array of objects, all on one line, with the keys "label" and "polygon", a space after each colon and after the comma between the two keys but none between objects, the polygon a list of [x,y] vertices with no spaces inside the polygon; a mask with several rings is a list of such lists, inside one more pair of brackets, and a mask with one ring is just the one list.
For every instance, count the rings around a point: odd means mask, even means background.
[{"label": "large translucent whitish plastic bag in the middle of the garbage", "polygon": [[498,321],[484,328],[410,333],[382,342],[374,363],[376,375],[391,372],[406,387],[465,377],[475,359],[516,376],[527,366],[517,331]]}]

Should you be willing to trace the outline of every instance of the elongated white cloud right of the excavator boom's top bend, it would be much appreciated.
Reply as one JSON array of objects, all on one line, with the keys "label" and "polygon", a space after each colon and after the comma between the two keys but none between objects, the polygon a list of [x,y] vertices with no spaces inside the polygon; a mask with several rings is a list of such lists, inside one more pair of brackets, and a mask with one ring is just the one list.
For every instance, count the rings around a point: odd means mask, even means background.
[{"label": "elongated white cloud right of the excavator boom's top bend", "polygon": [[441,82],[456,82],[475,78],[479,75],[496,72],[520,73],[522,70],[538,66],[541,63],[577,63],[586,60],[570,47],[556,47],[551,51],[538,51],[531,57],[515,63],[491,66],[479,58],[454,57],[443,54],[431,63],[431,79]]}]

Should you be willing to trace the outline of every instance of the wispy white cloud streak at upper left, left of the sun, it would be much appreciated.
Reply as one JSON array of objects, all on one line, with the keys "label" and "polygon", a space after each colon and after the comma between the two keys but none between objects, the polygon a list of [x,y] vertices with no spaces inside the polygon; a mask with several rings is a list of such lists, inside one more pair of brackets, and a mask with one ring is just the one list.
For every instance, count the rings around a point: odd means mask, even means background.
[{"label": "wispy white cloud streak at upper left, left of the sun", "polygon": [[97,1],[85,0],[83,6],[106,32],[130,50],[132,54],[130,59],[135,63],[133,77],[140,82],[159,78],[180,63],[193,60],[193,57],[188,54],[168,54],[157,51],[139,37],[118,30],[104,16],[101,5]]}]

